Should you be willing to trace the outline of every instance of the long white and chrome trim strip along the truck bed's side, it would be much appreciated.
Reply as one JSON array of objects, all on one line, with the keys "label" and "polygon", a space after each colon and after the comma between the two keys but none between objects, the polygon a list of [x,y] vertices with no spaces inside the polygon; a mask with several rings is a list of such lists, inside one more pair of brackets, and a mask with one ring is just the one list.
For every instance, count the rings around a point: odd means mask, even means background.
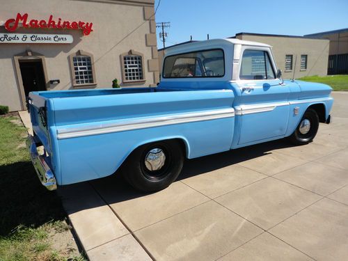
[{"label": "long white and chrome trim strip along the truck bed's side", "polygon": [[169,114],[166,116],[142,117],[136,119],[118,120],[118,122],[97,124],[88,127],[72,127],[57,129],[58,139],[69,139],[79,136],[106,134],[111,132],[125,132],[134,129],[145,129],[179,123],[216,120],[235,116],[233,108],[216,109],[214,111],[200,111],[193,113]]}]

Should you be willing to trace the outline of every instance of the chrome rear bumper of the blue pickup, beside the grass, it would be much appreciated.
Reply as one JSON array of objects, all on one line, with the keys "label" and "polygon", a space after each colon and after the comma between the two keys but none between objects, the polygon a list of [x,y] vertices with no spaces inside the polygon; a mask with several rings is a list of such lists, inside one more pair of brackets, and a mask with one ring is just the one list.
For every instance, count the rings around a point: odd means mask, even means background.
[{"label": "chrome rear bumper of the blue pickup, beside the grass", "polygon": [[38,154],[34,137],[30,134],[26,139],[26,148],[29,150],[31,161],[42,185],[48,190],[57,189],[56,177],[54,177],[51,168],[47,165],[45,158]]}]

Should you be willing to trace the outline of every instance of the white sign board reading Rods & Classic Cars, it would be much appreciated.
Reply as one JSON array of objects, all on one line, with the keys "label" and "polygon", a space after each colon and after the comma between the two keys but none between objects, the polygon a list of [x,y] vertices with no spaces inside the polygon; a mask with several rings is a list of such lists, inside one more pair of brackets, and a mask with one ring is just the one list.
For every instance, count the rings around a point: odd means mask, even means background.
[{"label": "white sign board reading Rods & Classic Cars", "polygon": [[0,33],[1,43],[47,43],[69,44],[74,38],[67,34],[38,34],[38,33]]}]

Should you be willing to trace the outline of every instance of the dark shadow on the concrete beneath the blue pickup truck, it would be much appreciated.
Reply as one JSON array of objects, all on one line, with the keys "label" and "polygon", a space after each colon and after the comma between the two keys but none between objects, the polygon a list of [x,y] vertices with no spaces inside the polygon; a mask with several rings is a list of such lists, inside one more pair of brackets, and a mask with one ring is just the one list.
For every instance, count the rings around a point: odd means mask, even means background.
[{"label": "dark shadow on the concrete beneath the blue pickup truck", "polygon": [[[228,152],[221,152],[214,155],[199,157],[196,159],[187,159],[184,162],[184,168],[177,180],[183,180],[188,177],[201,175],[203,173],[219,170],[226,166],[232,166],[239,162],[248,159],[255,159],[264,155],[271,154],[271,150],[292,147],[287,140],[271,141],[258,145],[252,145],[237,150],[230,150]],[[170,189],[170,187],[168,188]],[[88,192],[90,191],[90,192]],[[90,195],[82,196],[81,193],[96,193],[102,200],[91,200],[93,202],[86,202],[74,204],[72,212],[78,212],[91,207],[100,207],[101,205],[111,205],[120,203],[134,198],[141,198],[152,193],[141,193],[131,187],[122,177],[122,173],[117,171],[115,174],[90,182],[83,182],[79,184],[72,184],[61,187],[61,195],[64,200],[74,200],[77,198],[85,198]],[[79,194],[79,195],[75,195]],[[69,212],[69,211],[68,211]],[[71,213],[71,212],[70,212]]]}]

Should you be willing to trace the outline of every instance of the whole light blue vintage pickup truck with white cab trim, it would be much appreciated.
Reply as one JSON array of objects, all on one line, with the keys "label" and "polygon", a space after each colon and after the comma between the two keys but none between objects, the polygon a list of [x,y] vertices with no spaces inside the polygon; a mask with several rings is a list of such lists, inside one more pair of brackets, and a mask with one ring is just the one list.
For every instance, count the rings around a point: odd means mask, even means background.
[{"label": "whole light blue vintage pickup truck with white cab trim", "polygon": [[331,120],[331,88],[283,81],[269,45],[192,42],[163,64],[156,88],[30,93],[27,146],[47,189],[120,169],[136,189],[159,191],[185,158],[285,137],[303,145]]}]

